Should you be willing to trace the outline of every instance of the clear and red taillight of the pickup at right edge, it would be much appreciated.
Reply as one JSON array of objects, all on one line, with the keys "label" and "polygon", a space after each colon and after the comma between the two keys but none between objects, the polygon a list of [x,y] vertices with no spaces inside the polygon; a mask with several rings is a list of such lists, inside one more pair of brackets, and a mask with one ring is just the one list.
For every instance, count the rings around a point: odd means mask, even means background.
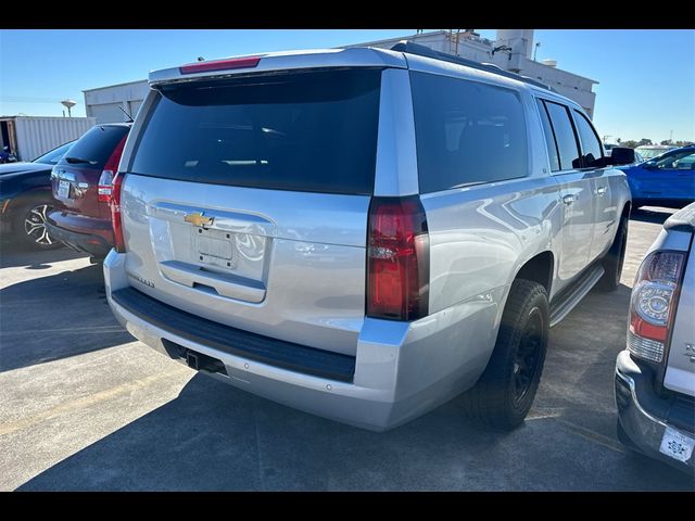
[{"label": "clear and red taillight of the pickup at right edge", "polygon": [[656,251],[642,262],[630,298],[628,351],[661,363],[673,325],[685,255]]}]

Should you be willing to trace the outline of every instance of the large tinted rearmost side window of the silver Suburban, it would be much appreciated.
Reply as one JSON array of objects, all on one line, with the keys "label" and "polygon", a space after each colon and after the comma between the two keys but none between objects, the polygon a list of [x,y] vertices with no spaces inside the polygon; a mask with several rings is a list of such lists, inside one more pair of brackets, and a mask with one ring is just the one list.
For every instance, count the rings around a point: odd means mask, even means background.
[{"label": "large tinted rearmost side window of the silver Suburban", "polygon": [[410,73],[420,191],[528,174],[521,102],[513,90]]}]

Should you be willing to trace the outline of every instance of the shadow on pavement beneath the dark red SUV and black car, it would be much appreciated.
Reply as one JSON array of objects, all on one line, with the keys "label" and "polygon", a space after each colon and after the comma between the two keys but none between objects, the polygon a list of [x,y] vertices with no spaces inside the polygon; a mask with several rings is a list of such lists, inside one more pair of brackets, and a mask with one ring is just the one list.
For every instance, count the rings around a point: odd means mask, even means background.
[{"label": "shadow on pavement beneath the dark red SUV and black car", "polygon": [[103,285],[92,265],[0,290],[0,372],[130,342]]}]

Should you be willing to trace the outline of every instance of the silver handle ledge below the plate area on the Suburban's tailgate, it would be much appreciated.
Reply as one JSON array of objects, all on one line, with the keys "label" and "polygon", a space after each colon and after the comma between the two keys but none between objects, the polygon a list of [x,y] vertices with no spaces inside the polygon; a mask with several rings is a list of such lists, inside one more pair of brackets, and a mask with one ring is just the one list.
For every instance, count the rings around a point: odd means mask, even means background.
[{"label": "silver handle ledge below the plate area on the Suburban's tailgate", "polygon": [[[160,263],[162,276],[172,282],[203,291],[214,289],[218,295],[257,304],[265,298],[265,285],[238,275],[218,275],[179,260]],[[208,290],[207,290],[208,291]]]}]

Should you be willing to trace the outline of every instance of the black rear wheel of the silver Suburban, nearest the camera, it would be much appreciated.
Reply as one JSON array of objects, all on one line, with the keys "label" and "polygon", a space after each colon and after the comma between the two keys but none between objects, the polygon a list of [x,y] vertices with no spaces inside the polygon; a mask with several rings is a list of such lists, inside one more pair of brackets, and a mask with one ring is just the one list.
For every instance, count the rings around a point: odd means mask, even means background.
[{"label": "black rear wheel of the silver Suburban, nearest the camera", "polygon": [[541,382],[548,329],[545,288],[515,280],[488,367],[462,397],[471,420],[505,431],[523,422]]}]

